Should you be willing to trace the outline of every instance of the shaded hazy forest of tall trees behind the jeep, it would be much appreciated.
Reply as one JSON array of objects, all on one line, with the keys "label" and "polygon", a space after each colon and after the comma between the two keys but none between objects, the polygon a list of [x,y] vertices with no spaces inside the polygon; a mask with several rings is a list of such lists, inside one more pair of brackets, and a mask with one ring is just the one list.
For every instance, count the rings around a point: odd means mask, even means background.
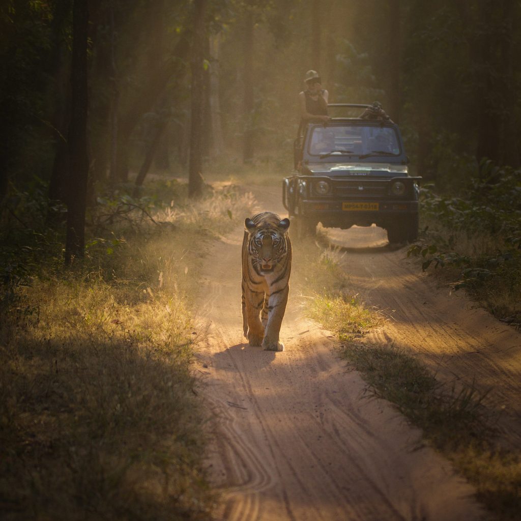
[{"label": "shaded hazy forest of tall trees behind the jeep", "polygon": [[[518,167],[520,11],[513,0],[3,0],[1,197],[36,177],[81,222],[79,201],[139,187],[151,167],[190,173],[193,194],[218,166],[287,173],[308,69],[330,102],[382,102],[427,180],[464,185],[483,158]],[[81,253],[82,238],[70,241]]]}]

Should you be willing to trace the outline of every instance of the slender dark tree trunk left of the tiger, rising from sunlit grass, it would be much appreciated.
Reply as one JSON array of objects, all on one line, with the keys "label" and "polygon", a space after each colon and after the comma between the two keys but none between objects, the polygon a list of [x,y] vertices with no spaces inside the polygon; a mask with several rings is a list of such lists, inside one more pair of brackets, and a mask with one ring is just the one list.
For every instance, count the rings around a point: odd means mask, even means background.
[{"label": "slender dark tree trunk left of the tiger, rising from sunlit grass", "polygon": [[203,103],[204,103],[204,12],[206,0],[194,0],[194,35],[192,45],[192,88],[190,103],[192,111],[192,128],[190,132],[190,164],[188,176],[188,194],[199,196],[203,191],[203,176],[201,175],[202,144],[203,144]]}]

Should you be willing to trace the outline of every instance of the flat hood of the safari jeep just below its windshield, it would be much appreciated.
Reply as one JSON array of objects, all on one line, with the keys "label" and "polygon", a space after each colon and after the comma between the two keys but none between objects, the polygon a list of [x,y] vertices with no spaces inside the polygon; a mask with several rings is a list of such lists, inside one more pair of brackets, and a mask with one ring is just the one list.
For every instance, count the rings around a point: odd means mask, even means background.
[{"label": "flat hood of the safari jeep just below its windshield", "polygon": [[308,163],[304,175],[328,177],[406,177],[407,166],[395,163]]}]

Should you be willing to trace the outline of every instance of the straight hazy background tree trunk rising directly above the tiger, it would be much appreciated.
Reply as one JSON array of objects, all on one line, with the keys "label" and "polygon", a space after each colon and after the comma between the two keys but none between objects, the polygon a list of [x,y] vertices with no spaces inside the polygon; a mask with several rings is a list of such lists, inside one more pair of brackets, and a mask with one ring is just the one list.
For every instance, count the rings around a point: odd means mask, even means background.
[{"label": "straight hazy background tree trunk rising directly above the tiger", "polygon": [[254,122],[253,122],[253,13],[246,12],[244,20],[244,163],[253,160]]}]

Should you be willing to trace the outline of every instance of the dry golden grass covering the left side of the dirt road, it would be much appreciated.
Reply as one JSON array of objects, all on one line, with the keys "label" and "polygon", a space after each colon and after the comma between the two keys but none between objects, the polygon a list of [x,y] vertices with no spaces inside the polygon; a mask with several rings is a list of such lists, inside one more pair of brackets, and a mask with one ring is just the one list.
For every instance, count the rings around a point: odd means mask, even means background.
[{"label": "dry golden grass covering the left side of the dirt road", "polygon": [[116,245],[16,289],[0,324],[2,519],[210,517],[190,305],[206,242],[250,204],[181,201],[154,216],[175,227],[116,227]]}]

